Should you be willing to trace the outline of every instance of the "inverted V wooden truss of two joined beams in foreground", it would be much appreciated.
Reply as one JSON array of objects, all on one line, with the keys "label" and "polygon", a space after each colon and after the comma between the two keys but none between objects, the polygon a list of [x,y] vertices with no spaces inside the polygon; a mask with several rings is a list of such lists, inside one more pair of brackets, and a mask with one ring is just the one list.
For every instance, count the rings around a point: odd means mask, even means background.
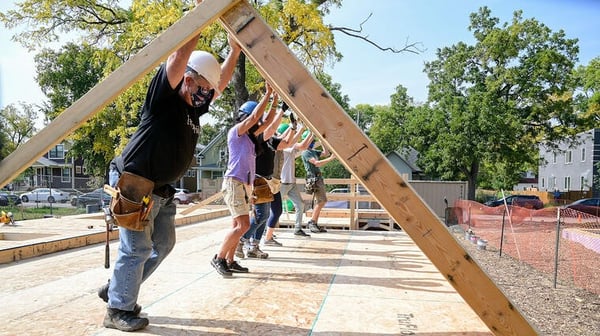
[{"label": "inverted V wooden truss of two joined beams in foreground", "polygon": [[205,0],[196,6],[0,162],[0,185],[16,178],[217,19],[281,98],[400,224],[495,335],[537,335],[517,307],[245,0]]}]

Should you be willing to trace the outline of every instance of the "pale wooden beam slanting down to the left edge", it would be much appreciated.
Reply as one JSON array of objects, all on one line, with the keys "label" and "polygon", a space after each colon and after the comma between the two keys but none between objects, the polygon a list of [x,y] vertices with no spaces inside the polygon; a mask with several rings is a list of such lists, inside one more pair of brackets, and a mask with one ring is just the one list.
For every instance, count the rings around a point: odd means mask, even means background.
[{"label": "pale wooden beam slanting down to the left edge", "polygon": [[48,126],[0,162],[0,187],[15,179],[38,158],[112,102],[170,53],[199,34],[239,0],[206,0],[155,38],[134,57],[94,86]]}]

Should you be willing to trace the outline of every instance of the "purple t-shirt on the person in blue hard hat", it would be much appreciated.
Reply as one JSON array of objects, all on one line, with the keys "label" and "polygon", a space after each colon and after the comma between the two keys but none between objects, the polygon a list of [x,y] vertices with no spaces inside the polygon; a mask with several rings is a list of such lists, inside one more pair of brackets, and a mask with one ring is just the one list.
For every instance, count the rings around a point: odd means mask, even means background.
[{"label": "purple t-shirt on the person in blue hard hat", "polygon": [[231,177],[244,184],[251,185],[254,183],[254,173],[256,171],[254,143],[250,140],[248,134],[238,135],[238,127],[239,124],[236,124],[227,132],[229,159],[225,177]]}]

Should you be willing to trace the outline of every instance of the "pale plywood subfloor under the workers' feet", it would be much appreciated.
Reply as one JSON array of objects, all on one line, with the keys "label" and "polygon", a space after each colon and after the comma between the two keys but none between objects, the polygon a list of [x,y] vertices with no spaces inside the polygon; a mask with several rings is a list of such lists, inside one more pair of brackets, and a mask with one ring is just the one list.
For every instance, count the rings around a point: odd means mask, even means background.
[{"label": "pale plywood subfloor under the workers' feet", "polygon": [[[229,218],[178,227],[171,255],[142,286],[141,335],[492,335],[402,232],[279,229],[283,247],[210,266]],[[118,242],[111,243],[111,259]],[[110,277],[97,244],[0,266],[0,335],[120,335],[102,327],[96,289]],[[112,267],[112,264],[111,264]]]}]

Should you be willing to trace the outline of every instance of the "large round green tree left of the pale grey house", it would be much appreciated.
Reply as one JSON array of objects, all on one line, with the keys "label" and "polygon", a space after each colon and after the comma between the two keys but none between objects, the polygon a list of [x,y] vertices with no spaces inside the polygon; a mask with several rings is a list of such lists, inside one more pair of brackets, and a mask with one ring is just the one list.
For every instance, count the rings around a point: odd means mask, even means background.
[{"label": "large round green tree left of the pale grey house", "polygon": [[401,117],[401,139],[420,152],[430,175],[467,179],[474,199],[482,169],[504,174],[498,180],[512,187],[515,169],[537,165],[540,141],[577,131],[571,93],[578,47],[520,11],[500,26],[482,7],[469,29],[474,45],[439,49],[425,65],[430,104]]}]

